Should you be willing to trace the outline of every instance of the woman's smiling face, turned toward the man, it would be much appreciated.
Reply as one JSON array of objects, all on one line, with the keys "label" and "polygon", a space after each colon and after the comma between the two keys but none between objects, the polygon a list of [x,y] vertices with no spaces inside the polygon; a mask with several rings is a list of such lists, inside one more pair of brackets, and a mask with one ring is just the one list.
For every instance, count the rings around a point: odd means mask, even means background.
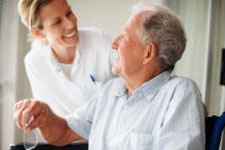
[{"label": "woman's smiling face, turned toward the man", "polygon": [[75,48],[78,41],[77,18],[66,0],[53,0],[40,10],[41,36],[57,49]]}]

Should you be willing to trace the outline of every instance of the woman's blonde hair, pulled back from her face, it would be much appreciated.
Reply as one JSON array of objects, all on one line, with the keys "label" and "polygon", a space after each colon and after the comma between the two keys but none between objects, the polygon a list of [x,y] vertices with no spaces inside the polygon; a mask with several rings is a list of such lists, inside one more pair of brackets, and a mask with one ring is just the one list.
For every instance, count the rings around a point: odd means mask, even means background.
[{"label": "woman's blonde hair, pulled back from her face", "polygon": [[40,10],[51,1],[52,0],[20,0],[18,4],[18,11],[23,24],[29,29],[42,29]]}]

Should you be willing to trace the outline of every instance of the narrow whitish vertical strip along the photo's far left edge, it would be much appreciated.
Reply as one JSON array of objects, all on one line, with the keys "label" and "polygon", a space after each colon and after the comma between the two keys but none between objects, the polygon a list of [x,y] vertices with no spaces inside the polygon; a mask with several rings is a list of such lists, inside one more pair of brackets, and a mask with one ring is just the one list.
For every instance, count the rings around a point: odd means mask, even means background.
[{"label": "narrow whitish vertical strip along the photo's far left edge", "polygon": [[[4,1],[1,21],[1,149],[9,149],[14,141],[13,106],[16,99],[16,64],[18,18],[15,1]],[[12,11],[8,11],[12,10]]]}]

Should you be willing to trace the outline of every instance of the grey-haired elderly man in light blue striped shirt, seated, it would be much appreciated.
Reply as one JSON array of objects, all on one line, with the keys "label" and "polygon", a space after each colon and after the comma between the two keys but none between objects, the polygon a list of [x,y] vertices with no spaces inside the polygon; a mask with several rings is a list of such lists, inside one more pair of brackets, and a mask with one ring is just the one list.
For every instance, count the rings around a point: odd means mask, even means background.
[{"label": "grey-haired elderly man in light blue striped shirt, seated", "polygon": [[15,106],[16,123],[38,127],[55,145],[84,138],[91,150],[203,150],[200,92],[190,79],[171,75],[185,44],[180,21],[168,10],[139,11],[112,43],[118,55],[113,71],[121,78],[65,119],[44,103],[22,101]]}]

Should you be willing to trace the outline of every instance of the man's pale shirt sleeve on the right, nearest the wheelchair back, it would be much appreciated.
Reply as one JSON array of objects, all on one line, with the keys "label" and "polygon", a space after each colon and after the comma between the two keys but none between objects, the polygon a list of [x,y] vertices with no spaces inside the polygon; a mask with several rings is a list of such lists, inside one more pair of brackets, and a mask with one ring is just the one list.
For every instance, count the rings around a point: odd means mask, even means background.
[{"label": "man's pale shirt sleeve on the right, nearest the wheelchair back", "polygon": [[205,121],[200,92],[194,82],[179,84],[173,91],[155,150],[204,150]]}]

